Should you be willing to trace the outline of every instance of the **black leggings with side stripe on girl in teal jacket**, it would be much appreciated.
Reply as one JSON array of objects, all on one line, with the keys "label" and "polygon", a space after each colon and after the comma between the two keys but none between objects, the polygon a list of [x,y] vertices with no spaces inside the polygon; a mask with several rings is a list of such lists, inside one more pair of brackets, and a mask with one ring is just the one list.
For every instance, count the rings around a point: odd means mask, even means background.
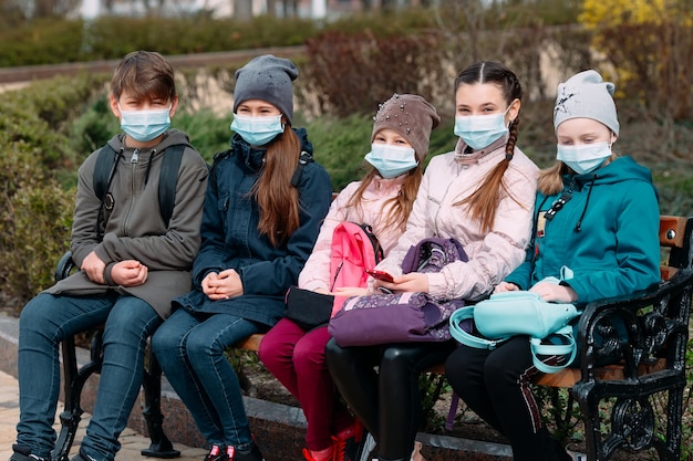
[{"label": "black leggings with side stripe on girl in teal jacket", "polygon": [[445,363],[445,375],[453,389],[508,439],[515,461],[570,460],[541,426],[529,388],[530,378],[537,373],[527,336],[516,336],[495,350],[459,346]]}]

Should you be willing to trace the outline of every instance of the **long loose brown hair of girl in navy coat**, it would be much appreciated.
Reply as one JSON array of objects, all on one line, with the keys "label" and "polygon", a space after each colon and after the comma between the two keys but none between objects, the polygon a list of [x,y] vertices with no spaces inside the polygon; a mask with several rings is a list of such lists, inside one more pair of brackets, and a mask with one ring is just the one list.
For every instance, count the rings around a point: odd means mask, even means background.
[{"label": "long loose brown hair of girl in navy coat", "polygon": [[285,244],[299,228],[299,191],[291,177],[301,155],[301,142],[291,125],[267,147],[265,166],[250,195],[260,208],[258,231],[275,247]]}]

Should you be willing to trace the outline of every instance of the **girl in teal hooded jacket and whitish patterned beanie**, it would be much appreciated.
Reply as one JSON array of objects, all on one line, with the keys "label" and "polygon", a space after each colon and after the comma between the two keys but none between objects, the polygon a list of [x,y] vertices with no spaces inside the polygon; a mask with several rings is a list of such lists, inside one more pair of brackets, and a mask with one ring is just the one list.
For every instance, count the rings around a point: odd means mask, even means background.
[{"label": "girl in teal hooded jacket and whitish patterned beanie", "polygon": [[[545,301],[585,304],[659,282],[656,193],[650,170],[612,151],[619,135],[613,90],[594,71],[558,85],[557,163],[539,175],[527,260],[496,292],[529,290]],[[567,452],[541,426],[526,336],[494,350],[463,345],[445,370],[469,408],[507,437],[516,461],[588,459]]]}]

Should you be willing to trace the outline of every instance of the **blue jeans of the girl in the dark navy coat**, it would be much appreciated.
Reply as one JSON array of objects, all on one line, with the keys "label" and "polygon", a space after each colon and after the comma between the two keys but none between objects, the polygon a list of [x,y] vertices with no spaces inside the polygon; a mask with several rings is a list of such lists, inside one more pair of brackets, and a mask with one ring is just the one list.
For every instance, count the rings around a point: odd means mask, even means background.
[{"label": "blue jeans of the girl in the dark navy coat", "polygon": [[224,353],[258,332],[258,324],[235,315],[179,308],[152,338],[162,370],[209,444],[252,441],[238,377]]}]

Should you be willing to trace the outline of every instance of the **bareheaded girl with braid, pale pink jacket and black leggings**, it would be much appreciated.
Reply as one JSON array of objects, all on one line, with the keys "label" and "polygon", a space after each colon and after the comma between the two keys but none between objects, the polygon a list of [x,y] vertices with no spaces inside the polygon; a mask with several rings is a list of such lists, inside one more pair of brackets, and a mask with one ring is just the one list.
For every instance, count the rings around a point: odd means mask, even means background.
[{"label": "bareheaded girl with braid, pale pink jacket and black leggings", "polygon": [[[520,264],[538,172],[515,146],[520,98],[517,77],[500,64],[477,63],[458,75],[455,133],[461,139],[455,151],[428,164],[406,231],[376,266],[394,282],[376,280],[374,287],[425,292],[442,301],[474,298]],[[456,239],[469,261],[448,264],[439,273],[402,275],[408,249],[428,237]],[[328,343],[330,373],[377,441],[381,461],[423,459],[415,442],[421,420],[418,375],[454,349],[453,340],[370,347]]]}]

